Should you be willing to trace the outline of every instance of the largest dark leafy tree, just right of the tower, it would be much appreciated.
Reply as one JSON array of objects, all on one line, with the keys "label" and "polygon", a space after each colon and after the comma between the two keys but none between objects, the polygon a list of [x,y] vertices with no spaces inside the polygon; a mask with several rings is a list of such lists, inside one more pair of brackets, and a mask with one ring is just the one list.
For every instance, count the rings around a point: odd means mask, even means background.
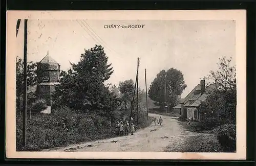
[{"label": "largest dark leafy tree, just right of the tower", "polygon": [[84,51],[77,64],[71,63],[68,72],[60,73],[60,85],[53,95],[54,104],[108,114],[115,109],[116,97],[103,83],[110,78],[113,68],[102,46]]}]

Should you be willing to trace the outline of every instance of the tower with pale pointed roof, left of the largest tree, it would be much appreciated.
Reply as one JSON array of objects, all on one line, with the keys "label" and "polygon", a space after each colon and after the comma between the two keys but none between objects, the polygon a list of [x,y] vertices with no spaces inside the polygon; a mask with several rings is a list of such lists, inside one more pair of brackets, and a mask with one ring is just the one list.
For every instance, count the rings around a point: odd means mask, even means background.
[{"label": "tower with pale pointed roof, left of the largest tree", "polygon": [[52,93],[59,81],[60,65],[47,55],[37,64],[37,98],[52,106]]}]

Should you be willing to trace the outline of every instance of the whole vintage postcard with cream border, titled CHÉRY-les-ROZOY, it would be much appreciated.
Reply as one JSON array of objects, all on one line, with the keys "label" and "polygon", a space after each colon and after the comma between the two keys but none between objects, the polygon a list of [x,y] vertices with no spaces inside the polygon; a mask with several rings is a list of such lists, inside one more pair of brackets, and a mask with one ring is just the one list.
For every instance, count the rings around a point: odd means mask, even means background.
[{"label": "whole vintage postcard with cream border, titled CH\u00c9RY-les-ROZOY", "polygon": [[245,10],[8,11],[6,67],[8,158],[246,159]]}]

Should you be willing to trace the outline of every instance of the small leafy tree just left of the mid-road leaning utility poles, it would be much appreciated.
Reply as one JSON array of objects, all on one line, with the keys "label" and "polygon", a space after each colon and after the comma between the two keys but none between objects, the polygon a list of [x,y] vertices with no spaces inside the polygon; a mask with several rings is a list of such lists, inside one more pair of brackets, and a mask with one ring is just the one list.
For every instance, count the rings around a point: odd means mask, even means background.
[{"label": "small leafy tree just left of the mid-road leaning utility poles", "polygon": [[127,109],[127,102],[130,102],[132,106],[133,94],[134,94],[134,82],[133,80],[125,80],[119,83],[119,90],[122,94],[122,100],[124,101],[125,110]]}]

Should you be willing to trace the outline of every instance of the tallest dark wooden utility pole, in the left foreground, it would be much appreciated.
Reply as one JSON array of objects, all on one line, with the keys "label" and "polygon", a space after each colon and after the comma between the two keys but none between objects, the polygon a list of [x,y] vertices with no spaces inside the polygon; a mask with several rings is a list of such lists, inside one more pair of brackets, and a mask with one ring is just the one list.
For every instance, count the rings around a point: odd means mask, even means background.
[{"label": "tallest dark wooden utility pole, in the left foreground", "polygon": [[24,22],[24,85],[23,85],[23,130],[22,144],[25,147],[27,142],[27,40],[28,40],[28,19]]}]

